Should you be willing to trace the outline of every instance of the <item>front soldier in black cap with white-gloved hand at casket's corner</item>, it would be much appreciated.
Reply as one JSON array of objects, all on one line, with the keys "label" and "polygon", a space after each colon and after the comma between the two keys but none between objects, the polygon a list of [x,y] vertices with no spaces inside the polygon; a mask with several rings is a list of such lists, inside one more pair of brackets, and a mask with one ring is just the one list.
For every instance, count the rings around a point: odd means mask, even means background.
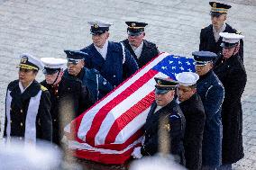
[{"label": "front soldier in black cap with white-gloved hand at casket's corner", "polygon": [[155,81],[155,102],[143,127],[145,140],[142,147],[134,148],[132,156],[141,158],[156,153],[171,154],[179,164],[184,165],[186,121],[174,98],[178,82],[160,77],[155,77]]}]

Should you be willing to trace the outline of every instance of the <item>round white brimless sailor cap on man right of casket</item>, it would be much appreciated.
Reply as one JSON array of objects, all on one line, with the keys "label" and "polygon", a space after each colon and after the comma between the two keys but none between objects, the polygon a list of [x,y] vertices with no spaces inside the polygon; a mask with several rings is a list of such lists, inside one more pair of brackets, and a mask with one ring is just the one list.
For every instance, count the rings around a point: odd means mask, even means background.
[{"label": "round white brimless sailor cap on man right of casket", "polygon": [[197,84],[197,80],[199,79],[199,76],[197,75],[197,73],[182,72],[176,75],[176,79],[179,85],[189,86],[189,85]]}]

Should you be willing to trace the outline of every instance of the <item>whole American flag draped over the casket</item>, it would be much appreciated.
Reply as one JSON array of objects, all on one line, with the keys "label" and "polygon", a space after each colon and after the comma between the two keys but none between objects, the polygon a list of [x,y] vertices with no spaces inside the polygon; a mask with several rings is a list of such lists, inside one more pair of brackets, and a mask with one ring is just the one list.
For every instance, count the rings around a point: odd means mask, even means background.
[{"label": "whole American flag draped over the casket", "polygon": [[140,145],[142,126],[154,101],[155,76],[176,79],[195,72],[194,59],[162,53],[65,128],[76,157],[123,164]]}]

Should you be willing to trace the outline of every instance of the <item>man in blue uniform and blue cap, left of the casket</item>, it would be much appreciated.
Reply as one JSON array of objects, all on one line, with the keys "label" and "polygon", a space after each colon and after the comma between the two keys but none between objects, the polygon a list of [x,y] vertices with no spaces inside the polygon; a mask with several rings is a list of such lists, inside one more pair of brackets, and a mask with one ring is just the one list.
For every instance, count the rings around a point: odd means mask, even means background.
[{"label": "man in blue uniform and blue cap, left of the casket", "polygon": [[95,68],[85,67],[87,53],[80,50],[64,50],[67,54],[68,68],[64,72],[64,76],[75,78],[86,85],[91,93],[94,102],[100,100],[113,90],[113,86],[100,75]]}]

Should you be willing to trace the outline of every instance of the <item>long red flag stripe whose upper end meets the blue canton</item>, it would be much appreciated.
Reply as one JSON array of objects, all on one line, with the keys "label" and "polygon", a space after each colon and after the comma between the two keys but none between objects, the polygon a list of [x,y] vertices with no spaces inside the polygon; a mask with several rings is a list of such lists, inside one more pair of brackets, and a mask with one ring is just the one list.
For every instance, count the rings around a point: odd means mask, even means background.
[{"label": "long red flag stripe whose upper end meets the blue canton", "polygon": [[95,146],[95,137],[100,129],[100,125],[105,119],[105,116],[109,111],[111,111],[117,104],[122,103],[128,96],[133,94],[136,90],[138,90],[142,85],[148,82],[153,76],[158,74],[155,70],[149,70],[146,74],[136,80],[132,85],[127,87],[121,94],[118,94],[112,101],[105,104],[94,117],[90,130],[87,131],[86,142],[91,146]]}]

